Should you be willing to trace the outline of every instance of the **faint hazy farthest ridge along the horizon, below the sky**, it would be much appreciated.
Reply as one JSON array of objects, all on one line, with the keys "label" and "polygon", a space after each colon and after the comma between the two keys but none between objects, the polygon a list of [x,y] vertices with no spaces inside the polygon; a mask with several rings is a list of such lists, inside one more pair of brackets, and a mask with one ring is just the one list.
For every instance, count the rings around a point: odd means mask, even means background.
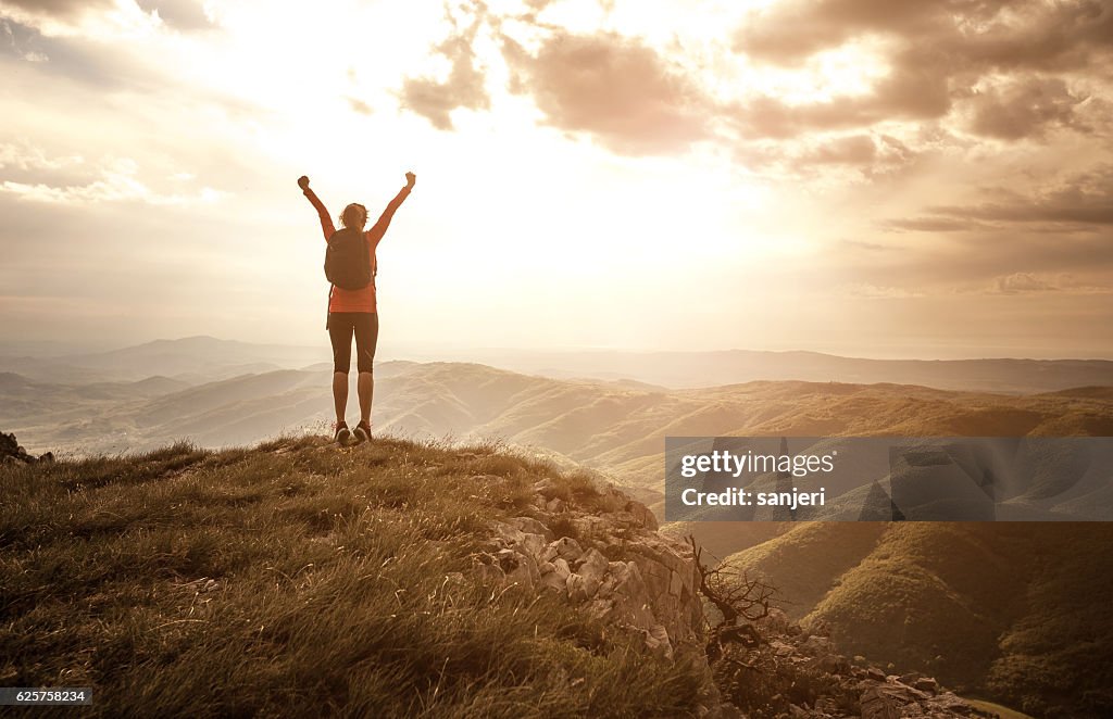
[{"label": "faint hazy farthest ridge along the horizon, below the sky", "polygon": [[[465,360],[558,380],[621,382],[631,388],[713,387],[758,381],[913,384],[942,390],[1032,394],[1113,385],[1107,360],[870,360],[818,352],[445,351],[429,360]],[[152,374],[193,384],[327,361],[328,348],[253,344],[198,336],[108,352],[0,341],[0,372],[57,382],[136,381]],[[456,362],[453,362],[456,364]]]}]

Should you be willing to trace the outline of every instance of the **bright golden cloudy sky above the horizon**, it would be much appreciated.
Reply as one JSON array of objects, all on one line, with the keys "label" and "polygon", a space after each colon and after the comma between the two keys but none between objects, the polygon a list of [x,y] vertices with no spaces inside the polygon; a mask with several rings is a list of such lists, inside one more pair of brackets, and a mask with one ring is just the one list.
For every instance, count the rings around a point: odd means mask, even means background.
[{"label": "bright golden cloudy sky above the horizon", "polygon": [[1113,3],[0,0],[0,336],[1113,358]]}]

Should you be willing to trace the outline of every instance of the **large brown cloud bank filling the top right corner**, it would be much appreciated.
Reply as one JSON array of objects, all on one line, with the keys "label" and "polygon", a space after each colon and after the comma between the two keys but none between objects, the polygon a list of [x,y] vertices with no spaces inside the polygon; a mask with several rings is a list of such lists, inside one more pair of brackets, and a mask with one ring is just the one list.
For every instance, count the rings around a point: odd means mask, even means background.
[{"label": "large brown cloud bank filling the top right corner", "polygon": [[[745,135],[792,137],[811,130],[868,127],[884,120],[933,120],[969,102],[974,131],[1002,139],[1042,137],[1048,126],[1084,127],[1074,110],[1084,99],[1062,78],[1033,72],[1094,71],[1113,50],[1113,3],[888,2],[790,0],[751,17],[736,49],[775,65],[878,37],[889,75],[871,92],[829,102],[786,105],[758,98],[736,108]],[[986,78],[1004,83],[976,91]]]}]

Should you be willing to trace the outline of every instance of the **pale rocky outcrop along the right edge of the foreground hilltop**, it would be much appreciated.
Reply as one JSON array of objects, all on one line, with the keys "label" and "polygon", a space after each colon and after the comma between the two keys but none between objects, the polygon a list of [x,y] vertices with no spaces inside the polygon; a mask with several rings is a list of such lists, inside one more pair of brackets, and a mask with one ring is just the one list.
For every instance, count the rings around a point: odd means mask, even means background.
[{"label": "pale rocky outcrop along the right edge of the foreground hilltop", "polygon": [[695,660],[707,677],[708,716],[897,719],[977,713],[929,677],[889,674],[848,660],[821,627],[806,631],[777,609],[755,624],[757,647],[732,646],[727,659],[712,664],[690,546],[659,534],[652,512],[613,487],[585,504],[570,500],[548,479],[533,489],[532,511],[492,524],[486,550],[473,558],[475,571],[551,592],[640,636],[664,657]]}]

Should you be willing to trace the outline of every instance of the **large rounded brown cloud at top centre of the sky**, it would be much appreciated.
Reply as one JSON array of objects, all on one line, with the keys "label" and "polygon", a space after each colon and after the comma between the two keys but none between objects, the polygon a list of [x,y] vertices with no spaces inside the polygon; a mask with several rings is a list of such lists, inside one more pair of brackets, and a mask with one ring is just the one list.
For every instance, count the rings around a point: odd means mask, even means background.
[{"label": "large rounded brown cloud at top centre of the sky", "polygon": [[531,93],[554,127],[630,155],[683,150],[710,135],[707,99],[637,40],[558,30],[535,55],[502,41],[512,89]]}]

